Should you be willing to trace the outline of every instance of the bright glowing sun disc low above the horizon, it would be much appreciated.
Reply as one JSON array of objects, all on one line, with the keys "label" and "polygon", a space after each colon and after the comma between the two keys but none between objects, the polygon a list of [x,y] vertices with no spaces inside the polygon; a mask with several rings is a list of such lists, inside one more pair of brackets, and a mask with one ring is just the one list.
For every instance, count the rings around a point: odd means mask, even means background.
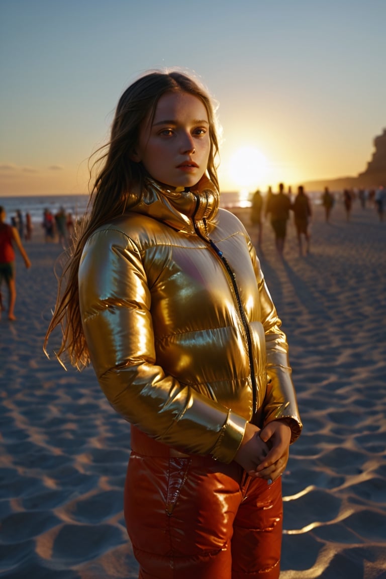
[{"label": "bright glowing sun disc low above the horizon", "polygon": [[268,172],[267,159],[259,149],[245,146],[230,159],[230,177],[241,190],[251,191],[261,186]]}]

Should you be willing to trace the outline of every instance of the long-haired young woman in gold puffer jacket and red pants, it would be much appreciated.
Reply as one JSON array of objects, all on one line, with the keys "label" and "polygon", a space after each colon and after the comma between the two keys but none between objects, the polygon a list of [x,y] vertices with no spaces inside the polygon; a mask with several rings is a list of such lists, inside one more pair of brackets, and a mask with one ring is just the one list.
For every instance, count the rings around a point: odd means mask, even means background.
[{"label": "long-haired young woman in gold puffer jacket and red pants", "polygon": [[131,423],[141,579],[277,578],[281,474],[302,425],[288,346],[244,226],[219,209],[214,110],[180,72],[117,105],[47,332]]}]

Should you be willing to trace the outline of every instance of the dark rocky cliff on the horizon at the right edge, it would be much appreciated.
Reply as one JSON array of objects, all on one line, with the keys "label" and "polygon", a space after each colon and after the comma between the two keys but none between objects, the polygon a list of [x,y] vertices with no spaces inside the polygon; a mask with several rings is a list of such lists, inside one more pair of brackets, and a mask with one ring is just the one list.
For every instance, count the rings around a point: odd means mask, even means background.
[{"label": "dark rocky cliff on the horizon at the right edge", "polygon": [[367,163],[363,173],[356,177],[340,177],[337,179],[318,179],[304,183],[308,190],[322,190],[326,186],[332,190],[344,188],[376,188],[380,185],[386,186],[386,129],[381,135],[374,138],[374,148],[372,159]]}]

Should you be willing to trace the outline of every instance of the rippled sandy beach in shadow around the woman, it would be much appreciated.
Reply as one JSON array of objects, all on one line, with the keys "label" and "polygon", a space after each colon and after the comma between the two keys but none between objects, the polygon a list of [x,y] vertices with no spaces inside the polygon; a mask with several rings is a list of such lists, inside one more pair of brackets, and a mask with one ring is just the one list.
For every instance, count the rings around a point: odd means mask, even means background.
[{"label": "rippled sandy beach in shadow around the woman", "polygon": [[[358,201],[350,222],[341,203],[330,223],[313,208],[310,255],[292,221],[282,261],[269,223],[258,249],[304,423],[283,475],[281,579],[385,579],[386,221]],[[123,520],[130,428],[91,368],[43,354],[61,248],[37,234],[25,248],[17,321],[0,322],[0,576],[138,577]]]}]

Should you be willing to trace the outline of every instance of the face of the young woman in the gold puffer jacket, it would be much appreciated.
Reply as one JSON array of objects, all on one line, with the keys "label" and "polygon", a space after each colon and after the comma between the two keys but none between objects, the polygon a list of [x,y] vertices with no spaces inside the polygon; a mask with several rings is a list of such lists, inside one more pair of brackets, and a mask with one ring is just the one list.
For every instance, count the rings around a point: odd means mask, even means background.
[{"label": "face of the young woman in the gold puffer jacket", "polygon": [[208,113],[200,98],[165,93],[153,121],[142,124],[132,159],[165,185],[191,187],[207,170],[210,148]]}]

